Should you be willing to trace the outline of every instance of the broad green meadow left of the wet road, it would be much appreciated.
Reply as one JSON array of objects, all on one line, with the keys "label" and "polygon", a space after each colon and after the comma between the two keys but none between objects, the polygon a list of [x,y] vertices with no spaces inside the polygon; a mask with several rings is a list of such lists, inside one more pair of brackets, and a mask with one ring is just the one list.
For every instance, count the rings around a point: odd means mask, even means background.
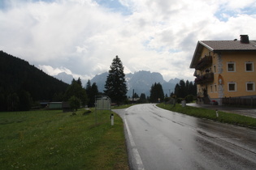
[{"label": "broad green meadow left of the wet road", "polygon": [[0,169],[128,169],[122,119],[83,113],[0,113]]}]

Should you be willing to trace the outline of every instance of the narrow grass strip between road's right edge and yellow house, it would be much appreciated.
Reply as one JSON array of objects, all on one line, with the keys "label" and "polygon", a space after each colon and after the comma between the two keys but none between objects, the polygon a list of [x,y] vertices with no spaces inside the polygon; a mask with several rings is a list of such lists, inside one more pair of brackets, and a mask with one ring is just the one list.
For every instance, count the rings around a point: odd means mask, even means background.
[{"label": "narrow grass strip between road's right edge and yellow house", "polygon": [[191,106],[182,107],[180,104],[176,104],[175,107],[171,104],[158,104],[159,108],[164,108],[177,113],[184,113],[193,117],[207,118],[214,121],[220,121],[233,125],[242,125],[256,128],[256,118],[245,117],[239,114],[224,113],[219,111],[219,117],[216,117],[215,110],[206,108],[195,108]]}]

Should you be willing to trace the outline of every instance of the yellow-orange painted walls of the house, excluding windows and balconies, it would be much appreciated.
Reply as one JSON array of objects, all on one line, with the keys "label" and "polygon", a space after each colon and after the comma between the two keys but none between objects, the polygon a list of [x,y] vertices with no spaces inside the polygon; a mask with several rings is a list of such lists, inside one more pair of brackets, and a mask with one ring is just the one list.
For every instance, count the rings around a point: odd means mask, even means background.
[{"label": "yellow-orange painted walls of the house, excluding windows and balconies", "polygon": [[[202,50],[202,57],[209,55],[210,50],[204,48]],[[202,92],[203,88],[207,88],[207,93],[211,99],[219,98],[219,54],[210,53],[212,56],[212,66],[209,67],[211,72],[214,73],[214,81],[203,85],[197,85],[197,92]],[[220,73],[223,77],[223,97],[235,97],[235,96],[255,96],[256,86],[256,52],[222,52],[222,72]],[[236,66],[235,72],[228,72],[228,62],[234,62]],[[254,71],[245,71],[245,62],[254,63]],[[214,69],[216,68],[216,72]],[[197,74],[205,74],[203,71],[197,70]],[[236,83],[236,91],[228,91],[228,83]],[[246,91],[246,83],[254,83],[254,91]]]}]

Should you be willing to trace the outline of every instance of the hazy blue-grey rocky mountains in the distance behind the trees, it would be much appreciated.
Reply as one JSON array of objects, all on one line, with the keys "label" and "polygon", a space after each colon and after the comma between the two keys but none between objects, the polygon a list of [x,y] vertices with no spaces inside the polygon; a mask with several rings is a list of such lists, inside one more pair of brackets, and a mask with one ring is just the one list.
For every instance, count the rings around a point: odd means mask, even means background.
[{"label": "hazy blue-grey rocky mountains in the distance behind the trees", "polygon": [[[93,77],[93,79],[90,80],[91,84],[96,83],[98,86],[98,91],[103,92],[106,83],[106,77],[108,75],[108,72],[98,74]],[[59,73],[58,75],[54,76],[57,79],[62,80],[65,83],[71,83],[72,82],[72,75],[66,74],[66,73]],[[180,83],[180,79],[170,79],[168,82],[163,79],[163,75],[157,72],[150,72],[145,70],[140,70],[135,73],[129,73],[125,74],[125,79],[128,87],[128,93],[127,96],[132,97],[132,91],[137,93],[137,95],[141,95],[141,93],[144,93],[145,96],[150,96],[150,89],[152,84],[154,83],[161,83],[163,87],[163,93],[167,96],[170,95],[171,92],[174,91],[174,88],[176,87],[176,83]],[[83,81],[82,83],[84,86],[86,85],[87,81]]]}]

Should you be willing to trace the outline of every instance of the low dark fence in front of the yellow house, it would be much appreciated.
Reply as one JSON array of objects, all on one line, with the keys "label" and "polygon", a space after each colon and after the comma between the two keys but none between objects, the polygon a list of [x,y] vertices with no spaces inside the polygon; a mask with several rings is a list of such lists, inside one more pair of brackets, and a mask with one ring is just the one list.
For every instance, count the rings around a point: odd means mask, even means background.
[{"label": "low dark fence in front of the yellow house", "polygon": [[222,98],[224,105],[256,106],[256,97],[225,97]]}]

